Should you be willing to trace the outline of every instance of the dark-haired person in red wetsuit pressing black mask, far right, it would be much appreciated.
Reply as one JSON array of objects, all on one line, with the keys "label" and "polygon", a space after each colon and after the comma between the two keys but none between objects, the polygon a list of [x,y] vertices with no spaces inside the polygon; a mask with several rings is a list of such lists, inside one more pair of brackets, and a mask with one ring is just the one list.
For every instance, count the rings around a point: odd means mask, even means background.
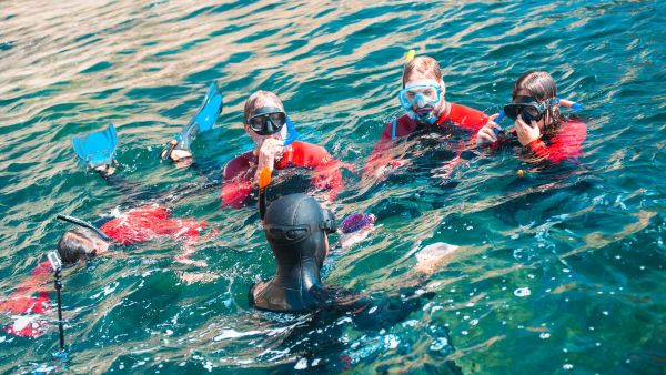
[{"label": "dark-haired person in red wetsuit pressing black mask, far right", "polygon": [[[576,119],[562,115],[557,100],[557,87],[551,74],[543,71],[525,72],[514,84],[512,103],[505,107],[506,116],[515,121],[514,130],[503,142],[495,134],[501,128],[483,130],[477,145],[511,143],[516,140],[531,153],[531,161],[559,163],[573,160],[582,152],[581,144],[587,136],[587,125]],[[501,136],[500,136],[501,138]]]}]

